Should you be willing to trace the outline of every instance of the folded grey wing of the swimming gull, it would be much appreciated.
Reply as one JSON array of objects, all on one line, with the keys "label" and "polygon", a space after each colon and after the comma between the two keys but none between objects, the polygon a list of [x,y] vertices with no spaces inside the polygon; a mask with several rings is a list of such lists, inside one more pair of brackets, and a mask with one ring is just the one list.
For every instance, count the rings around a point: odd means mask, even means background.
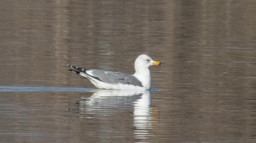
[{"label": "folded grey wing of the swimming gull", "polygon": [[91,70],[91,73],[93,74],[92,76],[94,76],[94,78],[98,78],[102,82],[107,82],[110,84],[132,84],[143,87],[141,82],[135,78],[135,76],[127,73],[104,70]]}]

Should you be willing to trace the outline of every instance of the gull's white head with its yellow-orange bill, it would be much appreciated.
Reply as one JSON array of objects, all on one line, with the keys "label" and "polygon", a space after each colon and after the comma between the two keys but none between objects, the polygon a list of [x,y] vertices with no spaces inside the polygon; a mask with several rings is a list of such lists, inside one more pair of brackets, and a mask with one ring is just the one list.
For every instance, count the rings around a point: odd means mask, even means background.
[{"label": "gull's white head with its yellow-orange bill", "polygon": [[152,65],[161,65],[161,62],[154,61],[150,56],[145,54],[138,56],[134,63],[135,71],[138,71],[141,68],[149,68]]}]

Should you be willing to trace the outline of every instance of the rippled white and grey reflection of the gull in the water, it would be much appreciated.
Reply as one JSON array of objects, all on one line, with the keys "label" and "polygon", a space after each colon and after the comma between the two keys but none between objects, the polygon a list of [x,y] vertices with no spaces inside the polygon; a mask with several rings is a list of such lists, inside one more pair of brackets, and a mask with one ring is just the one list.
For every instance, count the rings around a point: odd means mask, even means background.
[{"label": "rippled white and grey reflection of the gull in the water", "polygon": [[108,128],[105,131],[113,133],[117,130],[127,133],[127,128],[132,128],[130,134],[135,139],[152,137],[150,91],[98,90],[81,99],[80,118],[95,119],[101,129]]}]

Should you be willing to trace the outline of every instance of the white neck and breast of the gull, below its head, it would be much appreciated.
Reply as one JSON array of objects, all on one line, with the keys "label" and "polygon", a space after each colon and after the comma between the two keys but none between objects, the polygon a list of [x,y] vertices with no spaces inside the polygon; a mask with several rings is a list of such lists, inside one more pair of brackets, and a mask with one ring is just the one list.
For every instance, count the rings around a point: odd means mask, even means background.
[{"label": "white neck and breast of the gull, below its head", "polygon": [[149,90],[151,88],[151,75],[149,68],[141,67],[136,68],[135,73],[133,74],[143,85],[146,90]]}]

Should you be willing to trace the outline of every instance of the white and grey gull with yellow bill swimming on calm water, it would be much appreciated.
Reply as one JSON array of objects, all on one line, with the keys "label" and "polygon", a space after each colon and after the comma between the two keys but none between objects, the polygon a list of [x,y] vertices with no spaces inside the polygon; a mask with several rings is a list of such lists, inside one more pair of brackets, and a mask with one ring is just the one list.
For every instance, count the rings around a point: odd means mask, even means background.
[{"label": "white and grey gull with yellow bill swimming on calm water", "polygon": [[133,75],[117,71],[87,70],[69,64],[68,67],[70,71],[89,79],[95,87],[100,89],[145,91],[151,88],[149,67],[152,65],[161,65],[161,62],[142,54],[134,62],[135,73]]}]

